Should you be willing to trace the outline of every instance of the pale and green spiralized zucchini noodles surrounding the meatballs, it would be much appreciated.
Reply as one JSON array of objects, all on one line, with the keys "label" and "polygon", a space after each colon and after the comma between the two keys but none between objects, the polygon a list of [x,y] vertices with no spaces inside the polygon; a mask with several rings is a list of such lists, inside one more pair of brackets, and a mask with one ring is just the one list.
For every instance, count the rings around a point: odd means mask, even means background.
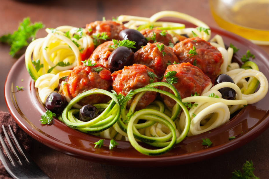
[{"label": "pale and green spiralized zucchini noodles surrounding the meatballs", "polygon": [[[197,25],[197,27],[185,28],[184,24],[158,21],[164,17],[183,19]],[[130,29],[141,30],[152,26],[167,30],[172,35],[174,42],[178,40],[178,35],[183,34],[187,34],[190,38],[198,36],[209,41],[222,54],[224,62],[220,74],[229,75],[235,83],[223,82],[213,87],[209,85],[200,94],[201,96],[190,96],[184,99],[181,99],[176,88],[169,83],[151,83],[130,94],[133,101],[130,109],[126,109],[127,102],[120,104],[115,94],[101,89],[89,90],[71,99],[68,85],[62,82],[60,92],[64,94],[68,105],[58,119],[70,128],[108,139],[130,141],[132,146],[143,154],[161,155],[171,150],[186,136],[198,135],[228,122],[232,113],[242,109],[244,105],[258,102],[268,92],[268,81],[264,74],[259,71],[258,66],[252,61],[247,61],[241,67],[238,63],[232,62],[233,48],[228,47],[226,50],[220,35],[215,35],[210,40],[211,30],[209,26],[194,17],[180,12],[162,11],[150,18],[121,15],[117,18],[117,22]],[[54,31],[47,29],[47,37],[34,40],[27,48],[26,67],[31,77],[36,81],[35,87],[38,88],[39,97],[43,104],[45,104],[49,94],[58,86],[59,79],[69,76],[72,72],[71,69],[81,64],[81,49],[93,46],[91,36],[86,35],[84,31],[79,40],[73,38],[74,34],[79,33],[78,30],[78,28],[70,26],[57,27]],[[67,31],[69,31],[71,38],[66,36]],[[80,46],[78,47],[73,41]],[[32,60],[36,62],[37,59],[39,59],[40,65],[43,64],[39,71],[32,64]],[[56,66],[61,61],[69,62],[69,65]],[[55,68],[48,73],[47,71],[51,67]],[[246,78],[249,80],[247,81]],[[256,90],[258,85],[260,87]],[[160,86],[169,88],[174,94],[154,88]],[[222,98],[222,94],[218,90],[224,87],[235,90],[235,100]],[[156,99],[145,109],[135,111],[138,101],[145,92],[157,92],[169,96],[176,101],[176,105],[171,109]],[[111,100],[105,104],[94,105],[102,113],[93,120],[83,122],[77,118],[79,110],[82,108],[77,102],[94,94],[107,95]],[[210,97],[212,94],[213,96]],[[187,102],[193,105],[187,108],[185,106]],[[140,146],[138,141],[159,148],[147,149]]]}]

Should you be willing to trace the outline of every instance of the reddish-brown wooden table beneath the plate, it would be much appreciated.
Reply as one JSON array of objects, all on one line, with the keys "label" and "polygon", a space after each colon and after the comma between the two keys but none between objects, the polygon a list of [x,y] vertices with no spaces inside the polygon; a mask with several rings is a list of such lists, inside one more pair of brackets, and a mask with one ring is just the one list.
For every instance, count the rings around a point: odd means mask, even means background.
[{"label": "reddish-brown wooden table beneath the plate", "polygon": [[[33,1],[34,2],[34,1]],[[84,27],[95,20],[121,14],[150,17],[162,10],[190,14],[210,26],[217,26],[211,16],[208,0],[44,0],[26,3],[1,0],[0,36],[17,29],[19,22],[29,16],[32,22],[41,21],[46,27],[61,25]],[[37,38],[46,36],[44,29]],[[268,46],[261,46],[269,53]],[[8,54],[9,46],[0,43],[0,110],[8,111],[4,99],[4,83],[11,66],[19,57]],[[234,169],[241,169],[246,160],[252,160],[255,175],[269,176],[269,129],[245,146],[206,161],[183,166],[161,168],[131,168],[102,165],[76,159],[34,141],[30,155],[50,178],[231,178]]]}]

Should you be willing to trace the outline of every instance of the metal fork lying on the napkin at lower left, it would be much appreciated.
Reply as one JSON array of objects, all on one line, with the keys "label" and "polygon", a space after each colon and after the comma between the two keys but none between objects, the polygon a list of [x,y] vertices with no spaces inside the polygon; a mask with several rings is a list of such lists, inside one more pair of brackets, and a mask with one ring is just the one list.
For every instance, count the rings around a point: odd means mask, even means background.
[{"label": "metal fork lying on the napkin at lower left", "polygon": [[21,142],[18,140],[16,137],[13,129],[8,125],[8,128],[12,134],[12,137],[17,144],[19,150],[21,151],[21,156],[15,147],[13,141],[10,139],[10,136],[8,135],[7,130],[5,129],[4,126],[2,126],[3,131],[5,133],[5,137],[7,138],[7,141],[9,143],[10,148],[12,149],[14,155],[18,159],[14,159],[12,156],[10,150],[8,149],[8,146],[6,145],[3,136],[0,133],[0,141],[2,143],[2,146],[4,148],[5,153],[8,156],[8,159],[5,157],[5,154],[3,153],[3,150],[0,150],[0,159],[5,167],[5,169],[8,171],[8,173],[16,179],[50,179],[37,165],[34,163],[33,159],[31,156],[28,154],[28,152],[25,150]]}]

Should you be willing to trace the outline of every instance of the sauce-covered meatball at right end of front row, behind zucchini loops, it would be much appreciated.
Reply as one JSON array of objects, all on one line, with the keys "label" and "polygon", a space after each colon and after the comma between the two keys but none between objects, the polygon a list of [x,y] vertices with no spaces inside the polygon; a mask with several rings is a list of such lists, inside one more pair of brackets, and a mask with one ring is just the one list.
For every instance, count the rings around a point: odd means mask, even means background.
[{"label": "sauce-covered meatball at right end of front row, behind zucchini loops", "polygon": [[[207,77],[202,70],[189,62],[169,65],[165,71],[165,75],[169,71],[176,72],[174,77],[177,77],[178,80],[177,83],[173,83],[173,85],[178,90],[182,99],[191,96],[191,94],[195,94],[195,92],[197,92],[197,94],[202,94],[206,87],[209,85],[210,87],[212,86],[209,77]],[[166,82],[165,77],[163,77],[162,82]],[[174,94],[172,90],[164,86],[161,86],[160,90]],[[165,105],[169,108],[172,108],[176,104],[175,100],[164,94],[161,94],[161,97],[163,98]]]}]

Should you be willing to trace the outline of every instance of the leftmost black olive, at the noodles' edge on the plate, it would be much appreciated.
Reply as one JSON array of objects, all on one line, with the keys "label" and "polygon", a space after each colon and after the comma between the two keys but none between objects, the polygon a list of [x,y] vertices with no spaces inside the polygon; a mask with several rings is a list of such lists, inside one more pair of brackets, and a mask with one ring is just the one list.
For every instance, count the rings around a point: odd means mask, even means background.
[{"label": "leftmost black olive, at the noodles' edge on the plate", "polygon": [[46,99],[46,108],[56,114],[61,113],[67,105],[65,96],[59,92],[52,92]]}]

